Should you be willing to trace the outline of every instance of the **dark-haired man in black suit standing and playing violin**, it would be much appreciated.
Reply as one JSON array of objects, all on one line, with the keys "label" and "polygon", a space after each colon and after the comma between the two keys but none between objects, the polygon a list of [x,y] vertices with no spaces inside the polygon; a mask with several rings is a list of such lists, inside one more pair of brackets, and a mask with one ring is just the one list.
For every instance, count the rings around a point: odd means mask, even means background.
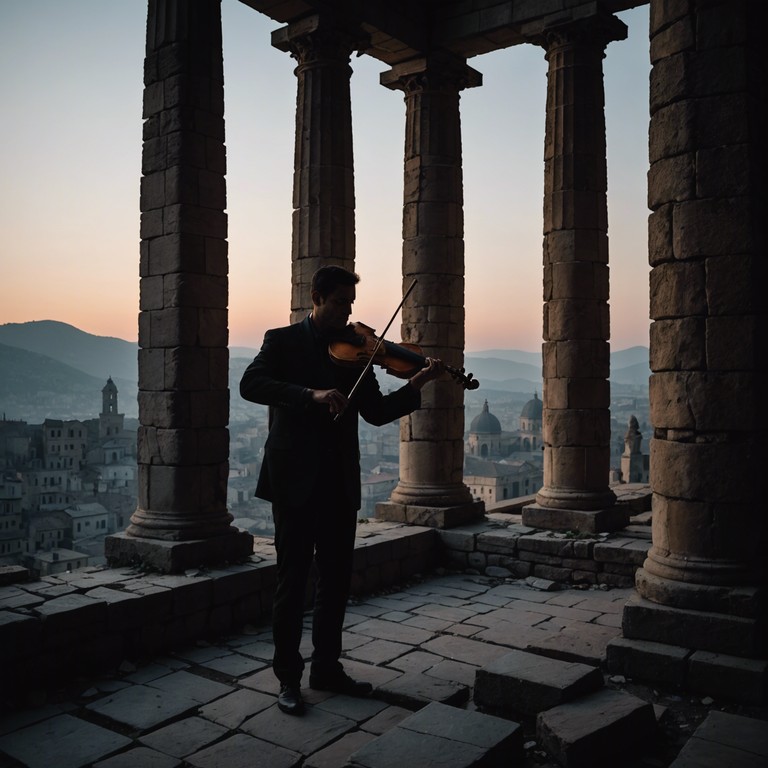
[{"label": "dark-haired man in black suit standing and playing violin", "polygon": [[[256,496],[272,502],[277,553],[272,668],[278,706],[301,714],[301,644],[306,586],[314,560],[311,688],[367,696],[340,661],[361,506],[358,415],[374,426],[421,406],[421,388],[444,371],[426,365],[383,394],[371,367],[339,366],[328,347],[347,328],[359,277],[324,266],[312,277],[312,311],[300,323],[268,330],[240,381],[240,395],[269,406],[269,436]],[[349,393],[352,397],[348,397]]]}]

